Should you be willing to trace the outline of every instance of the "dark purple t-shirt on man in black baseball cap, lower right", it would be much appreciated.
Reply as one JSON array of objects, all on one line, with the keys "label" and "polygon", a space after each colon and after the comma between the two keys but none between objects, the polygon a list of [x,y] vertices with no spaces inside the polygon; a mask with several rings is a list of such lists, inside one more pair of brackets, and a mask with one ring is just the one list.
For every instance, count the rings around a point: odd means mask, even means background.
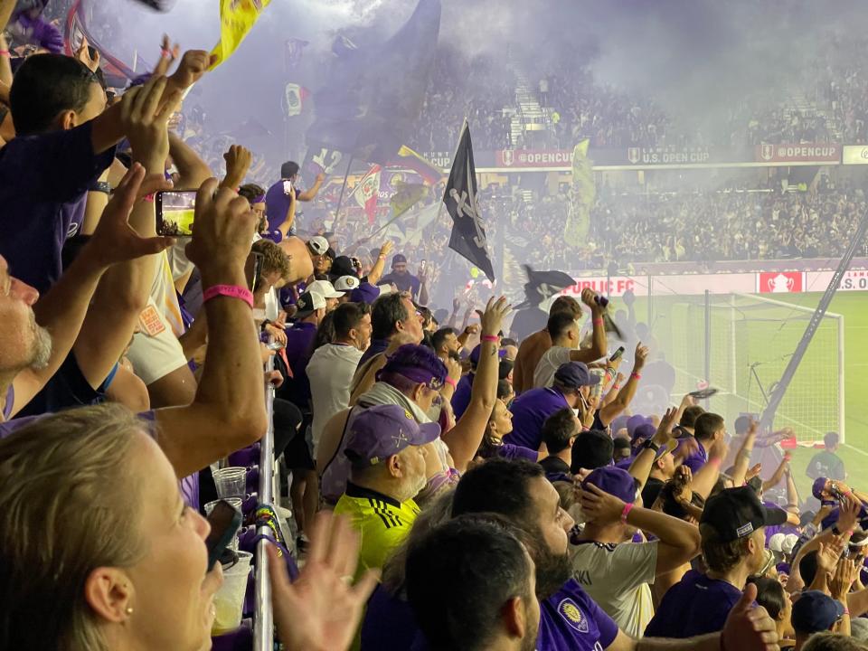
[{"label": "dark purple t-shirt on man in black baseball cap, lower right", "polygon": [[723,630],[741,590],[724,580],[691,570],[663,597],[645,637],[693,637]]}]

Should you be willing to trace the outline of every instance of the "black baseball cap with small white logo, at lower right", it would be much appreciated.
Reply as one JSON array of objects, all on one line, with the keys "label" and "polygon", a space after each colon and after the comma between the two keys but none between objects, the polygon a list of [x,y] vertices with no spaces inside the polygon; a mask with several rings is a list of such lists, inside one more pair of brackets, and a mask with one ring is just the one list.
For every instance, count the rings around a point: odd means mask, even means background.
[{"label": "black baseball cap with small white logo, at lower right", "polygon": [[787,512],[766,508],[750,486],[727,488],[705,502],[699,524],[710,524],[722,542],[739,540],[771,524],[787,522]]}]

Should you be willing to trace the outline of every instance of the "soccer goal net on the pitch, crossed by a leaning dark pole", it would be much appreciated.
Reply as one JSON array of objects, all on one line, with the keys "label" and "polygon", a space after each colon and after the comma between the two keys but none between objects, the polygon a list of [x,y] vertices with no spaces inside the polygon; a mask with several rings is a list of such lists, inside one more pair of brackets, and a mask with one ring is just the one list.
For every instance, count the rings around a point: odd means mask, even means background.
[{"label": "soccer goal net on the pitch, crossed by a leaning dark pole", "polygon": [[[656,343],[675,370],[673,400],[707,384],[709,409],[730,424],[761,414],[814,314],[776,298],[742,294],[655,298]],[[775,415],[775,429],[808,444],[837,431],[844,441],[844,316],[820,321]]]}]

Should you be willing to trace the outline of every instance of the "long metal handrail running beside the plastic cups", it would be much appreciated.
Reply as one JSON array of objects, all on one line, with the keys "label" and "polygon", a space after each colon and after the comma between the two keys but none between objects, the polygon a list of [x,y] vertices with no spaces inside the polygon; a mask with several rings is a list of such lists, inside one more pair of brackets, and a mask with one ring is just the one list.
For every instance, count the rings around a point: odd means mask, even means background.
[{"label": "long metal handrail running beside the plastic cups", "polygon": [[[274,360],[269,357],[266,370],[274,369]],[[259,504],[271,505],[274,498],[274,386],[265,382],[265,411],[268,427],[259,443]],[[261,524],[259,535],[271,535],[268,524]],[[272,651],[274,648],[274,612],[271,609],[271,582],[269,581],[268,541],[256,543],[256,613],[253,618],[253,650]]]}]

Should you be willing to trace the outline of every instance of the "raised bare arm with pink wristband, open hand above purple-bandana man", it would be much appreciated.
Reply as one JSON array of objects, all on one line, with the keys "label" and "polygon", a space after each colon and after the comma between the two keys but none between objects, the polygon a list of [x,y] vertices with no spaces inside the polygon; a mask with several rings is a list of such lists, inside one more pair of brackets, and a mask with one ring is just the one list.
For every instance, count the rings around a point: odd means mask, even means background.
[{"label": "raised bare arm with pink wristband, open hand above purple-bandana man", "polygon": [[449,453],[459,472],[464,472],[467,464],[476,455],[476,450],[479,449],[486,432],[488,419],[491,418],[491,411],[495,408],[500,368],[500,358],[497,355],[500,344],[497,342],[497,333],[500,332],[504,317],[511,309],[505,297],[497,300],[494,297],[488,299],[486,311],[480,315],[482,349],[479,353],[479,363],[476,364],[476,378],[470,393],[470,403],[455,427],[441,436],[448,445]]}]

